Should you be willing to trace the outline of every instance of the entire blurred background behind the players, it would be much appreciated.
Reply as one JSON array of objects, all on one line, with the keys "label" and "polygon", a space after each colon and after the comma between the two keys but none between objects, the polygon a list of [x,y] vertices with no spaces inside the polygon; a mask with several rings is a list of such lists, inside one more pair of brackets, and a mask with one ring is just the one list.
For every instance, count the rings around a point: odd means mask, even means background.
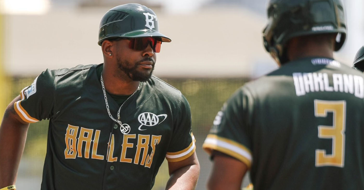
[{"label": "entire blurred background behind the players", "polygon": [[[110,8],[140,3],[154,10],[163,43],[154,74],[190,102],[205,189],[211,162],[201,146],[223,102],[241,85],[277,69],[262,46],[267,0],[0,0],[0,113],[41,71],[103,62],[99,22]],[[364,44],[363,0],[345,0],[348,38],[335,58],[351,65]],[[29,127],[17,189],[39,190],[48,121]],[[59,174],[62,175],[62,174]],[[165,188],[164,163],[153,190]],[[243,186],[249,183],[244,179]]]}]

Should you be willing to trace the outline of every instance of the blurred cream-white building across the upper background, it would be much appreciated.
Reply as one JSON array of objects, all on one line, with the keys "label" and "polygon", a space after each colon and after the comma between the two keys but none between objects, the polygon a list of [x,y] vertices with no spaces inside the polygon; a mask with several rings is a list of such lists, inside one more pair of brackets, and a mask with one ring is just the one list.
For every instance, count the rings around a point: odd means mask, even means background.
[{"label": "blurred cream-white building across the upper background", "polygon": [[[8,5],[5,71],[11,75],[37,75],[46,68],[102,63],[96,43],[100,19],[111,7],[130,1],[3,2]],[[172,43],[163,43],[158,54],[155,74],[160,77],[255,78],[277,68],[262,46],[266,0],[134,2],[152,6],[161,32],[172,39]],[[356,51],[364,44],[364,16],[358,8],[364,7],[364,2],[346,0],[345,3],[348,38],[335,57],[351,65]],[[21,8],[23,5],[28,5],[28,9]]]}]

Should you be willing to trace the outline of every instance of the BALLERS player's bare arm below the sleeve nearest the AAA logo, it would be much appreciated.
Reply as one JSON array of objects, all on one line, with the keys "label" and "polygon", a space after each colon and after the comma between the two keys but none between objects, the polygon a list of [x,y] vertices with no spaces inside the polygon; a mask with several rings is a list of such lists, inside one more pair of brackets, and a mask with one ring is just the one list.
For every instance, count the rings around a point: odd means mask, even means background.
[{"label": "BALLERS player's bare arm below the sleeve nearest the AAA logo", "polygon": [[196,187],[200,164],[196,152],[190,157],[178,161],[168,162],[170,178],[166,185],[166,190],[193,190]]}]

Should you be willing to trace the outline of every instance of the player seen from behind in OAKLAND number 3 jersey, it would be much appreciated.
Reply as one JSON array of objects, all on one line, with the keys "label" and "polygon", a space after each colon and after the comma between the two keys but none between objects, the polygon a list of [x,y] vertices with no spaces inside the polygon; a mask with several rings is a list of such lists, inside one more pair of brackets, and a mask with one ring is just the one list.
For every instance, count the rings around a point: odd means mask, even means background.
[{"label": "player seen from behind in OAKLAND number 3 jersey", "polygon": [[346,37],[340,0],[270,0],[264,46],[279,69],[217,113],[203,148],[210,190],[364,189],[364,75],[333,59]]}]

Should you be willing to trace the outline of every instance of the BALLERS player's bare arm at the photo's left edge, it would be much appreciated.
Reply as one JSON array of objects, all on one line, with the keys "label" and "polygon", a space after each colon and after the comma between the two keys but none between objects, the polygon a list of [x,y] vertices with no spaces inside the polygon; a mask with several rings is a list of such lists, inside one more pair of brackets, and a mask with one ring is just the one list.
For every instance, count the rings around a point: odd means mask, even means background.
[{"label": "BALLERS player's bare arm at the photo's left edge", "polygon": [[0,127],[0,189],[15,185],[17,170],[24,151],[29,123],[15,112],[16,97],[6,108]]}]

